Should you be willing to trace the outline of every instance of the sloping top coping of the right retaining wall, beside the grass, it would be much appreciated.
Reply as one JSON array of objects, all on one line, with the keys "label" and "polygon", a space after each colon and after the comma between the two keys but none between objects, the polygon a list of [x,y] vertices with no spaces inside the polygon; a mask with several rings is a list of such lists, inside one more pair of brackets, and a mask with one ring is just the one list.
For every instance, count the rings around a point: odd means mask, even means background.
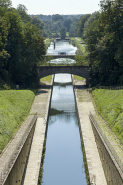
[{"label": "sloping top coping of the right retaining wall, beside the grass", "polygon": [[110,152],[112,153],[115,161],[117,162],[119,168],[121,169],[121,171],[123,172],[123,162],[121,161],[120,157],[118,156],[117,152],[115,151],[114,147],[112,146],[112,144],[110,143],[109,139],[106,137],[105,133],[102,131],[101,127],[99,126],[99,124],[97,123],[96,119],[94,118],[94,116],[91,114],[91,112],[89,113],[89,118],[91,120],[91,122],[93,123],[94,127],[96,128],[96,130],[99,132],[99,134],[102,136],[102,138],[104,139],[105,144],[107,145],[108,149],[110,150]]}]

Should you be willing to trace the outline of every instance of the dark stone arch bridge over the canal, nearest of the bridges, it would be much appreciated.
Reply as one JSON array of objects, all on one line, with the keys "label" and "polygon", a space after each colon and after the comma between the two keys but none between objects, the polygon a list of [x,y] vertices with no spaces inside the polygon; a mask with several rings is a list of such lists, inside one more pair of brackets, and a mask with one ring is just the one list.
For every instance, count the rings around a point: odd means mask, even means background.
[{"label": "dark stone arch bridge over the canal, nearest of the bridges", "polygon": [[39,85],[40,78],[58,73],[74,74],[86,78],[86,85],[89,86],[89,67],[88,66],[39,66]]}]

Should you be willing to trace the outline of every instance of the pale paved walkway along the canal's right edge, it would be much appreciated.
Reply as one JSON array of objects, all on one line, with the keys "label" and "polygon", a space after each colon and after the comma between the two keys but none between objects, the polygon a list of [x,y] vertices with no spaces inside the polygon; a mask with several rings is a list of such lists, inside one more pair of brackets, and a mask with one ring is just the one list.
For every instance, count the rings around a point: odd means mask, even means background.
[{"label": "pale paved walkway along the canal's right edge", "polygon": [[[95,114],[89,92],[82,81],[73,80],[76,107],[80,126],[80,135],[84,143],[90,182],[94,185],[107,185],[94,133],[89,119],[89,112]],[[80,89],[81,86],[81,89]]]}]

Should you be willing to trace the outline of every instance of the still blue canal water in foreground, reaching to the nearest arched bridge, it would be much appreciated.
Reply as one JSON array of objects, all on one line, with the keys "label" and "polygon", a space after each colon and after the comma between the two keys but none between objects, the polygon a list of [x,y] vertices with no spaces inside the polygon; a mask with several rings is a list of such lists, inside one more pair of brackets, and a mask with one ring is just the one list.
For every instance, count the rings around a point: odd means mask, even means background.
[{"label": "still blue canal water in foreground, reaching to the nearest arched bridge", "polygon": [[70,74],[54,79],[41,185],[87,185]]}]

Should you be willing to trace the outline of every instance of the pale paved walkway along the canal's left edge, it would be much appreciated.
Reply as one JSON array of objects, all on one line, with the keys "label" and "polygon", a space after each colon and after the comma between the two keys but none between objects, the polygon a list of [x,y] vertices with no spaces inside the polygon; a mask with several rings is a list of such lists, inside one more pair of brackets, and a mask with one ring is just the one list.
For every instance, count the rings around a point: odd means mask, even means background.
[{"label": "pale paved walkway along the canal's left edge", "polygon": [[[48,84],[48,83],[47,83]],[[48,85],[51,85],[48,84]],[[41,165],[41,156],[45,139],[51,89],[47,86],[39,89],[32,105],[31,114],[37,112],[38,119],[30,149],[27,169],[23,185],[37,185]]]}]

